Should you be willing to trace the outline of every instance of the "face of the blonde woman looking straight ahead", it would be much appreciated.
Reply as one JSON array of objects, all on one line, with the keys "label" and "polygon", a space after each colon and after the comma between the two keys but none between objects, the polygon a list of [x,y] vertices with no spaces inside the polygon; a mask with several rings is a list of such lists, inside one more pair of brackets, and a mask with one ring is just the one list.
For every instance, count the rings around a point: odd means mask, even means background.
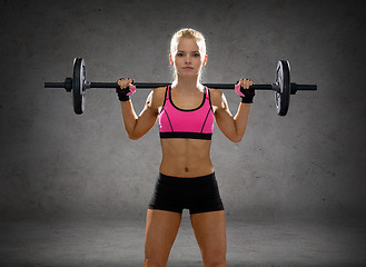
[{"label": "face of the blonde woman looking straight ahead", "polygon": [[177,76],[198,77],[207,62],[207,55],[199,50],[196,39],[180,38],[177,51],[169,55],[169,61],[175,67]]}]

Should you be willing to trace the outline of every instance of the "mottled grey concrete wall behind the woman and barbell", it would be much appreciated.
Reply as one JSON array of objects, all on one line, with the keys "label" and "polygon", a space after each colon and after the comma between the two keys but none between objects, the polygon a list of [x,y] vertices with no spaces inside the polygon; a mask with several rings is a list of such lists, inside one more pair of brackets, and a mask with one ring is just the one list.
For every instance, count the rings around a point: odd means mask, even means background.
[{"label": "mottled grey concrete wall behind the woman and barbell", "polygon": [[[273,82],[291,63],[286,117],[257,92],[240,144],[216,127],[211,157],[228,217],[350,218],[366,211],[364,1],[11,1],[0,3],[2,218],[145,214],[158,175],[158,128],[128,139],[113,90],[90,90],[82,116],[44,81],[71,76],[170,81],[171,34],[207,38],[206,82]],[[133,96],[137,112],[148,91]],[[233,112],[239,103],[226,92]]]}]

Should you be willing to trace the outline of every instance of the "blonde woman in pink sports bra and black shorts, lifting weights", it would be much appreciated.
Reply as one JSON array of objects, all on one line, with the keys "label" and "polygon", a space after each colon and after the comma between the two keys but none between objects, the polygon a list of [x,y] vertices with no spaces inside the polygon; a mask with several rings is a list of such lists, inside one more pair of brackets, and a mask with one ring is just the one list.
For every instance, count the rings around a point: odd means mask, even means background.
[{"label": "blonde woman in pink sports bra and black shorts, lifting weights", "polygon": [[229,140],[241,140],[255,95],[248,89],[253,81],[238,81],[236,92],[243,100],[233,117],[224,93],[199,81],[201,68],[207,63],[200,32],[192,29],[176,32],[169,61],[175,81],[167,88],[154,89],[139,116],[129,99],[135,92],[132,79],[118,80],[117,92],[129,138],[139,139],[159,119],[162,160],[147,211],[144,266],[167,265],[184,208],[190,211],[205,266],[227,266],[225,212],[210,161],[211,134],[216,120]]}]

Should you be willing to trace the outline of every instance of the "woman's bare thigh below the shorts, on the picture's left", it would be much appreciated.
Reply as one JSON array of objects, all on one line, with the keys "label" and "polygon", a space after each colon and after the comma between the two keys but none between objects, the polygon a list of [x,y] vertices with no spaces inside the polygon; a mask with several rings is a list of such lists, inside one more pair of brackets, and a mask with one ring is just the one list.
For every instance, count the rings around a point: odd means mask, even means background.
[{"label": "woman's bare thigh below the shorts, on the picture's left", "polygon": [[170,249],[178,234],[181,214],[148,209],[144,267],[167,266]]}]

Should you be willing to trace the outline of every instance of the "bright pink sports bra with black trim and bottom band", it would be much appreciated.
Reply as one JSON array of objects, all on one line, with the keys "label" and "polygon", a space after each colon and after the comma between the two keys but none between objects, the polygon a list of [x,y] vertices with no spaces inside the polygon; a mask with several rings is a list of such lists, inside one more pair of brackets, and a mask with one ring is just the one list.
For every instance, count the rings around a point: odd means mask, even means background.
[{"label": "bright pink sports bra with black trim and bottom band", "polygon": [[205,87],[204,99],[198,108],[180,109],[174,105],[168,86],[159,115],[159,131],[160,138],[211,140],[214,111],[208,88]]}]

